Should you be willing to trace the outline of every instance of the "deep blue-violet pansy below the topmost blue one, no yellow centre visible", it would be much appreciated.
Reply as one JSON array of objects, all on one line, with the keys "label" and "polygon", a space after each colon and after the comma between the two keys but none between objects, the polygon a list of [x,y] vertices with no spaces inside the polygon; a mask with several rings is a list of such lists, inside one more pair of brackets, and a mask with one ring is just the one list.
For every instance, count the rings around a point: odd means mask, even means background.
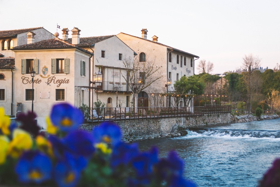
[{"label": "deep blue-violet pansy below the topmost blue one, no yellow centre visible", "polygon": [[85,131],[70,132],[64,138],[64,144],[71,150],[73,154],[90,157],[94,152],[93,137]]}]

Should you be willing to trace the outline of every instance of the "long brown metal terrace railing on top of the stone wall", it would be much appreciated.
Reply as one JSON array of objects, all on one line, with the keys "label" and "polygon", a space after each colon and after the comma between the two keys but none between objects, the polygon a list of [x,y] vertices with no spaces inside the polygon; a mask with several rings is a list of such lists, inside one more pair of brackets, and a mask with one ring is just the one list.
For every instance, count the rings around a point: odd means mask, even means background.
[{"label": "long brown metal terrace railing on top of the stone wall", "polygon": [[201,107],[118,107],[91,108],[88,121],[140,120],[164,117],[199,116],[209,113],[229,113],[231,105],[204,105]]}]

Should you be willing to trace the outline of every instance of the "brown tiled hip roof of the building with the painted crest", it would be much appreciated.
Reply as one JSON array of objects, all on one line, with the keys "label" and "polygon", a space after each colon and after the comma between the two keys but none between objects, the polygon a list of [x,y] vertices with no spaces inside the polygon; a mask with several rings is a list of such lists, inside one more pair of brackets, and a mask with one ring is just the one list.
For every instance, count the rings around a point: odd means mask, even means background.
[{"label": "brown tiled hip roof of the building with the painted crest", "polygon": [[38,41],[33,44],[25,44],[22,46],[16,46],[12,50],[13,51],[18,51],[18,50],[36,50],[36,49],[78,49],[80,51],[83,51],[85,53],[88,53],[92,55],[91,52],[82,49],[80,47],[77,47],[76,45],[70,44],[67,41],[63,41],[62,39],[59,38],[53,38],[53,39],[48,39],[48,40],[42,40]]}]

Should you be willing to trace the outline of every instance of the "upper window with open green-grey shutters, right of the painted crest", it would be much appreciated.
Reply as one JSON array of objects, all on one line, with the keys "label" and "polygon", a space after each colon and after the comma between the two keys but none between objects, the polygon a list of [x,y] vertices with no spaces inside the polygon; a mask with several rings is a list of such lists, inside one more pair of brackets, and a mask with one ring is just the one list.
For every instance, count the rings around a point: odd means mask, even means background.
[{"label": "upper window with open green-grey shutters, right of the painted crest", "polygon": [[52,74],[69,73],[69,58],[53,58]]}]

